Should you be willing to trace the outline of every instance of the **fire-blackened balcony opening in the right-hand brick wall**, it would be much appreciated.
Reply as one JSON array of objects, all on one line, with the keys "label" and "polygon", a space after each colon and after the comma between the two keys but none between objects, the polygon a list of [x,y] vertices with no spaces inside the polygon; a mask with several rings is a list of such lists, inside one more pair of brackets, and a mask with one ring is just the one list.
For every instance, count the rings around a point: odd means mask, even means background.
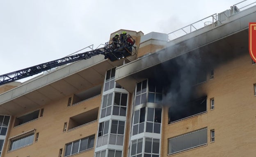
[{"label": "fire-blackened balcony opening in the right-hand brick wall", "polygon": [[171,104],[169,107],[169,123],[173,123],[207,111],[207,97],[181,104]]}]

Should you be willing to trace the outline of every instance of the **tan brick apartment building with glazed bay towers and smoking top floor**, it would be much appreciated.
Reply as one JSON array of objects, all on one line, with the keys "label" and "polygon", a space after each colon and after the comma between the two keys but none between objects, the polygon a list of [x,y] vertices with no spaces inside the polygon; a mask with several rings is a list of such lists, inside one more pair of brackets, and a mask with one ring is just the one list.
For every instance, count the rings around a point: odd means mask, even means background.
[{"label": "tan brick apartment building with glazed bay towers and smoking top floor", "polygon": [[119,30],[135,55],[0,86],[0,157],[254,157],[255,17],[233,6],[176,39]]}]

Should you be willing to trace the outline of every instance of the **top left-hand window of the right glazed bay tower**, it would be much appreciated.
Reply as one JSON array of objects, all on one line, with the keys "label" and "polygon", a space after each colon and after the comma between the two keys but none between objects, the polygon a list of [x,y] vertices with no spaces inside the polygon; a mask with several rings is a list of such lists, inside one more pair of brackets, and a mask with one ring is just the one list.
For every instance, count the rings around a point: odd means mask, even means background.
[{"label": "top left-hand window of the right glazed bay tower", "polygon": [[137,83],[135,93],[135,106],[146,102],[147,80]]}]

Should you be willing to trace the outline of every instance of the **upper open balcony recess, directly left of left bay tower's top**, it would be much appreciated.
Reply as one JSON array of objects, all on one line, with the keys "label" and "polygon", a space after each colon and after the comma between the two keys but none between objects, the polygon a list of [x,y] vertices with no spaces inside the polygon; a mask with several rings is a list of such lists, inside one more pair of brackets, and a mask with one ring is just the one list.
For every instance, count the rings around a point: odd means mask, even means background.
[{"label": "upper open balcony recess, directly left of left bay tower's top", "polygon": [[75,104],[78,104],[78,103],[88,100],[90,98],[96,97],[100,94],[101,94],[101,85],[94,86],[85,91],[74,94],[73,99],[72,99],[71,103],[68,103],[68,106],[69,106],[69,104],[71,104],[73,106]]}]

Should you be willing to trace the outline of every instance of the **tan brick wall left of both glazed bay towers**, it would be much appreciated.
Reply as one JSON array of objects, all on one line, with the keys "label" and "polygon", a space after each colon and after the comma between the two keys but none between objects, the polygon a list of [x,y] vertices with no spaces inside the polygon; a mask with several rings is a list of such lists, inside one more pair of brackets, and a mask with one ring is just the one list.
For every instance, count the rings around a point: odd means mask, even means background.
[{"label": "tan brick wall left of both glazed bay towers", "polygon": [[[2,157],[58,157],[60,148],[63,149],[62,154],[64,155],[65,144],[96,134],[98,122],[64,133],[62,131],[64,122],[69,122],[69,117],[84,113],[93,108],[99,108],[101,95],[70,107],[67,107],[68,99],[69,97],[66,97],[65,99],[42,106],[41,108],[44,108],[43,117],[28,122],[27,124],[16,126],[15,128],[13,128],[14,117],[12,117],[10,123],[11,127],[9,127],[11,130],[9,130],[7,139],[31,129],[36,129],[35,133],[39,132],[39,138],[38,142],[34,142],[30,146],[8,153],[6,153],[7,147],[4,147]],[[8,142],[9,145],[9,140],[6,140],[6,142]],[[93,155],[94,149],[91,149],[76,155],[76,157],[93,157]]]}]

